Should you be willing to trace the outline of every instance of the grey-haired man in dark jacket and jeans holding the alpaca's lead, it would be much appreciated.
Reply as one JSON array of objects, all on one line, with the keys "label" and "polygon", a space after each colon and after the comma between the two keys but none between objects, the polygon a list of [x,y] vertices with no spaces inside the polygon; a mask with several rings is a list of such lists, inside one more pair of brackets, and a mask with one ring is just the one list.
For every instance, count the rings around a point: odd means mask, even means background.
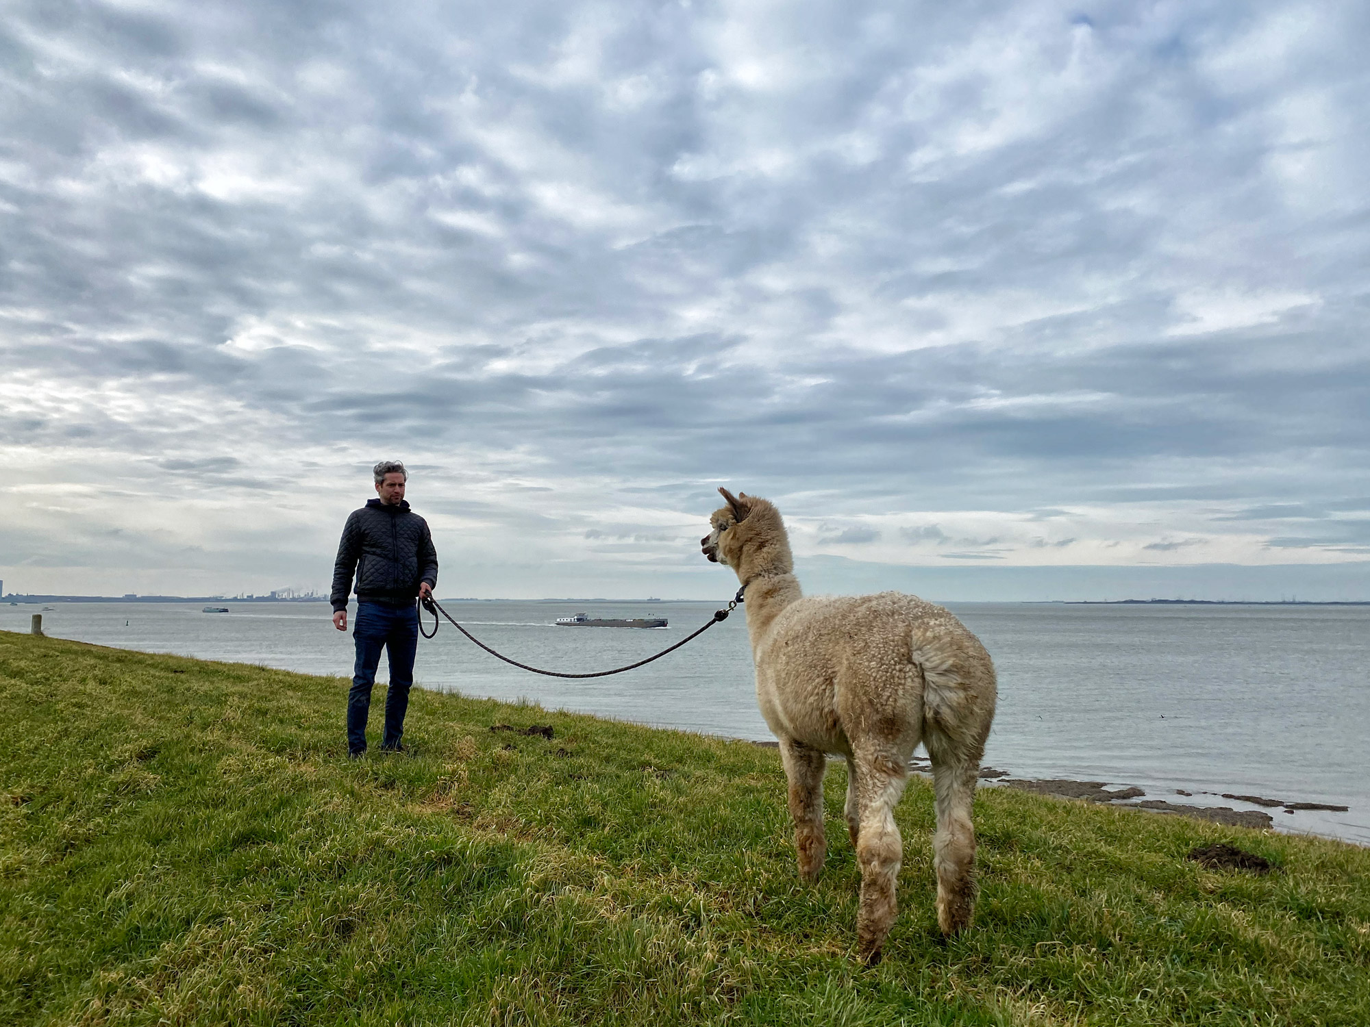
[{"label": "grey-haired man in dark jacket and jeans holding the alpaca's lead", "polygon": [[414,683],[419,618],[415,596],[427,598],[437,585],[437,550],[427,522],[404,501],[408,471],[399,460],[373,468],[375,494],[355,509],[342,529],[333,564],[333,626],[347,630],[347,597],[356,572],[356,665],[347,698],[347,748],[352,759],[366,752],[366,719],[381,649],[390,656],[381,752],[403,752],[404,711]]}]

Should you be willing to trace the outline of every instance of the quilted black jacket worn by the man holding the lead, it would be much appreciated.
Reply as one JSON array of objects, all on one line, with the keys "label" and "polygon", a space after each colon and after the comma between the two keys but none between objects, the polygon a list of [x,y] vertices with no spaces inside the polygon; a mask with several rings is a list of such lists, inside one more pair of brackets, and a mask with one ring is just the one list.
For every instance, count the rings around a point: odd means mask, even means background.
[{"label": "quilted black jacket worn by the man holding the lead", "polygon": [[370,500],[352,511],[333,564],[329,600],[334,611],[347,609],[353,571],[359,601],[396,607],[414,603],[419,582],[437,586],[437,549],[427,522],[404,500],[393,507]]}]

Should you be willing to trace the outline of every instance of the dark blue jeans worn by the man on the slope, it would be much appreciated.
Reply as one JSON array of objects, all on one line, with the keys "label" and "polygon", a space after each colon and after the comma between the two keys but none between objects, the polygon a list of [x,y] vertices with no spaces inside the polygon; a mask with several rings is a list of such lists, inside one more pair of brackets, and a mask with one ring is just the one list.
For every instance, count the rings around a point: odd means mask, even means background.
[{"label": "dark blue jeans worn by the man on the slope", "polygon": [[381,649],[390,655],[390,687],[385,694],[385,735],[382,749],[399,749],[404,734],[404,711],[410,707],[414,683],[414,652],[419,641],[416,607],[388,607],[384,603],[358,603],[356,665],[352,690],[347,697],[347,748],[349,753],[366,752],[366,718],[371,712],[371,686],[381,664]]}]

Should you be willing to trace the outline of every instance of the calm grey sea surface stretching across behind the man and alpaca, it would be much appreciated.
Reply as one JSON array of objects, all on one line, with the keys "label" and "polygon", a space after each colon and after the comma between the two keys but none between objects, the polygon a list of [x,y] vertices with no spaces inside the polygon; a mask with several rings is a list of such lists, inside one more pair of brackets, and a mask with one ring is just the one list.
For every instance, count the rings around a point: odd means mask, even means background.
[{"label": "calm grey sea surface stretching across behind the man and alpaca", "polygon": [[[49,635],[126,649],[349,676],[351,631],[322,603],[62,603]],[[537,667],[595,671],[643,659],[710,620],[717,603],[448,601],[471,633]],[[1332,802],[1269,809],[1275,827],[1370,845],[1370,607],[951,604],[999,671],[985,761],[1017,778],[1136,785],[1147,798],[1258,809],[1223,791]],[[656,630],[556,627],[559,616],[666,616]],[[756,711],[745,608],[662,660],[612,678],[541,678],[444,623],[419,639],[429,689],[529,700],[734,738],[767,739]],[[27,631],[37,604],[0,605]],[[386,678],[382,660],[379,681]],[[342,694],[338,730],[342,730]],[[378,707],[373,705],[373,711]],[[378,724],[373,724],[378,727]],[[1175,794],[1177,789],[1193,797]],[[1207,794],[1206,794],[1207,793]]]}]

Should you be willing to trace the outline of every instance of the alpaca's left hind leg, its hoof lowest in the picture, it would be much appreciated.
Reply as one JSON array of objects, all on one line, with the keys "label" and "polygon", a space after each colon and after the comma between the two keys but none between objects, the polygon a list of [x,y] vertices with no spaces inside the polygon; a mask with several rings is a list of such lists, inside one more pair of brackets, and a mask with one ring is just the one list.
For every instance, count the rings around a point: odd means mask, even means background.
[{"label": "alpaca's left hind leg, its hoof lowest in the picture", "polygon": [[856,950],[867,963],[880,960],[881,946],[899,912],[896,889],[904,841],[895,823],[895,805],[908,783],[907,761],[896,753],[856,755],[860,822],[856,863],[860,865],[860,909],[856,913]]}]

